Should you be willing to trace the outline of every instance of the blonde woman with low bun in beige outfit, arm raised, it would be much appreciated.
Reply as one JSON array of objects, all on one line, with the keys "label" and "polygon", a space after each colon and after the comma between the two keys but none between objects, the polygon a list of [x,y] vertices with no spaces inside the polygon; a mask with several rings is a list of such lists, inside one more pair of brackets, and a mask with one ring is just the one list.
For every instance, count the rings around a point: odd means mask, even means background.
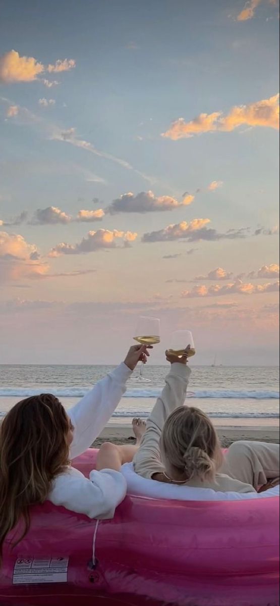
[{"label": "blonde woman with low bun in beige outfit, arm raised", "polygon": [[165,387],[147,420],[133,459],[136,473],[169,484],[215,491],[255,492],[279,479],[279,444],[235,442],[222,454],[219,438],[202,410],[184,406],[190,368],[188,348],[171,364]]}]

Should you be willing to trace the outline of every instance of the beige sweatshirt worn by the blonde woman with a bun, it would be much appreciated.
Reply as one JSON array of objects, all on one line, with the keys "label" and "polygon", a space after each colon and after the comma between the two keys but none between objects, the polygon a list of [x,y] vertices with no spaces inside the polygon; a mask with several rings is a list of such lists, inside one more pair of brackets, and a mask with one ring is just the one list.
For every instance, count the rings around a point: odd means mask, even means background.
[{"label": "beige sweatshirt worn by the blonde woman with a bun", "polygon": [[[162,427],[170,413],[175,408],[184,405],[190,373],[188,366],[175,363],[172,364],[170,372],[165,378],[165,387],[147,420],[147,429],[142,437],[140,448],[133,459],[136,473],[143,478],[152,479],[153,474],[164,473],[165,471],[159,449]],[[245,484],[222,473],[216,473],[215,481],[202,482],[200,479],[193,478],[182,485],[212,488],[212,490],[221,492],[255,492],[252,485]]]}]

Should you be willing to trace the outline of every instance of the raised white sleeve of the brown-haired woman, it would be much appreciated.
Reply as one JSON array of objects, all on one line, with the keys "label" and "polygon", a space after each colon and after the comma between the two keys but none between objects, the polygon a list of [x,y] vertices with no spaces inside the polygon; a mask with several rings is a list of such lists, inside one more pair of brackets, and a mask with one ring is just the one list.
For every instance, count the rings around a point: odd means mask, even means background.
[{"label": "raised white sleeve of the brown-haired woman", "polygon": [[124,395],[125,383],[131,374],[122,362],[68,411],[75,428],[70,459],[84,453],[99,436]]}]

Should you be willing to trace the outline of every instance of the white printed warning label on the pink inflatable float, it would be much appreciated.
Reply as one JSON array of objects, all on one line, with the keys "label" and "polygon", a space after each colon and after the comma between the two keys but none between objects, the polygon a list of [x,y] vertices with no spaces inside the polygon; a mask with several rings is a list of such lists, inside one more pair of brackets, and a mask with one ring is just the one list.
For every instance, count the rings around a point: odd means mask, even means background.
[{"label": "white printed warning label on the pink inflatable float", "polygon": [[18,558],[13,568],[13,585],[67,583],[69,558]]}]

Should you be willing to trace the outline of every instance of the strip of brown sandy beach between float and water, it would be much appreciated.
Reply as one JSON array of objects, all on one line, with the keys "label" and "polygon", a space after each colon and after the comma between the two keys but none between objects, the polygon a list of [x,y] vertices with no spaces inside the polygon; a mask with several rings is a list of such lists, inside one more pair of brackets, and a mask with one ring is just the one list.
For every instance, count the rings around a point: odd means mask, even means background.
[{"label": "strip of brown sandy beach between float and water", "polygon": [[[223,419],[224,421],[224,419]],[[254,427],[252,419],[248,419],[250,425],[242,424],[242,427],[233,427],[215,423],[219,438],[223,447],[228,447],[237,440],[256,440],[259,442],[275,442],[279,444],[279,425],[276,425],[273,419],[273,427]],[[113,442],[114,444],[133,444],[133,431],[130,425],[108,424],[102,431],[101,436],[92,445],[98,448],[103,442]]]}]

